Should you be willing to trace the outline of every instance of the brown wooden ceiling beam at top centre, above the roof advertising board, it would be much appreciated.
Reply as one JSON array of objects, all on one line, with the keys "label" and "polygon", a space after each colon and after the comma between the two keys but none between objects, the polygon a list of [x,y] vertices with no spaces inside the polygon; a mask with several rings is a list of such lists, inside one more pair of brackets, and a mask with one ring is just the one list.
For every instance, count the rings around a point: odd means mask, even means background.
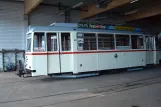
[{"label": "brown wooden ceiling beam at top centre, above the roof advertising board", "polygon": [[89,4],[86,7],[82,8],[84,10],[87,9],[88,11],[81,11],[80,16],[81,16],[81,19],[89,18],[97,14],[100,14],[102,12],[106,12],[110,9],[114,9],[124,4],[130,3],[130,2],[131,0],[112,0],[111,2],[107,4],[105,8],[97,8],[96,7],[97,4]]}]

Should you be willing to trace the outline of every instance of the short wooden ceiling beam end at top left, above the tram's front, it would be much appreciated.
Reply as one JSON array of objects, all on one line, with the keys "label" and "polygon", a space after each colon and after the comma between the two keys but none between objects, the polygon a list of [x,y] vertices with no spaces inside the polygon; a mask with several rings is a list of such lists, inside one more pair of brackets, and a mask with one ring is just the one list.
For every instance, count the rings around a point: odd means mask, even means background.
[{"label": "short wooden ceiling beam end at top left, above the tram's front", "polygon": [[31,13],[43,0],[25,0],[25,14]]}]

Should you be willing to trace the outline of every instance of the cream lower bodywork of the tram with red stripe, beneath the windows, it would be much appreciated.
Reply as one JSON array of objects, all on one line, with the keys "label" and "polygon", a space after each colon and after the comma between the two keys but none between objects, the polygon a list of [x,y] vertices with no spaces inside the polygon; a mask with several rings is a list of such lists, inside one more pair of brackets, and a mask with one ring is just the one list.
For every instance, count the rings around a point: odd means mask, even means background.
[{"label": "cream lower bodywork of the tram with red stripe, beneath the windows", "polygon": [[[32,76],[47,76],[68,72],[78,74],[89,71],[146,66],[159,62],[155,48],[153,51],[152,49],[149,51],[147,49],[78,51],[77,32],[71,31],[70,34],[71,51],[62,52],[60,49],[55,52],[56,54],[44,52],[44,55],[26,55],[31,70],[36,70],[35,73],[32,72]],[[114,57],[115,54],[118,55],[117,58]]]}]

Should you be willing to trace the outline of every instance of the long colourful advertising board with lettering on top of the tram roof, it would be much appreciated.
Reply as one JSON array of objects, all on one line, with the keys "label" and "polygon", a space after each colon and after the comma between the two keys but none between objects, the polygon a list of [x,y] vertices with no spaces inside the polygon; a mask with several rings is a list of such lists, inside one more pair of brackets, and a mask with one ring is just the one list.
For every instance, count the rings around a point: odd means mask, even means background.
[{"label": "long colourful advertising board with lettering on top of the tram roof", "polygon": [[111,26],[102,24],[88,24],[88,23],[78,23],[78,28],[89,28],[89,29],[104,29],[104,30],[123,30],[123,31],[135,31],[141,32],[140,28],[125,27],[125,26]]}]

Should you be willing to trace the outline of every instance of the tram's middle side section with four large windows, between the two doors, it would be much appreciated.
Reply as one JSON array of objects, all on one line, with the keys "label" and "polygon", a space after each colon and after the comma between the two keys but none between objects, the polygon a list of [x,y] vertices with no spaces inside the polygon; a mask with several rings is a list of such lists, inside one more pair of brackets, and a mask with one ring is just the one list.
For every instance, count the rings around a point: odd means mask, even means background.
[{"label": "tram's middle side section with four large windows, between the two doors", "polygon": [[[79,72],[146,66],[144,35],[76,33],[75,62]],[[82,38],[82,37],[83,38]],[[131,41],[132,40],[132,41]]]}]

